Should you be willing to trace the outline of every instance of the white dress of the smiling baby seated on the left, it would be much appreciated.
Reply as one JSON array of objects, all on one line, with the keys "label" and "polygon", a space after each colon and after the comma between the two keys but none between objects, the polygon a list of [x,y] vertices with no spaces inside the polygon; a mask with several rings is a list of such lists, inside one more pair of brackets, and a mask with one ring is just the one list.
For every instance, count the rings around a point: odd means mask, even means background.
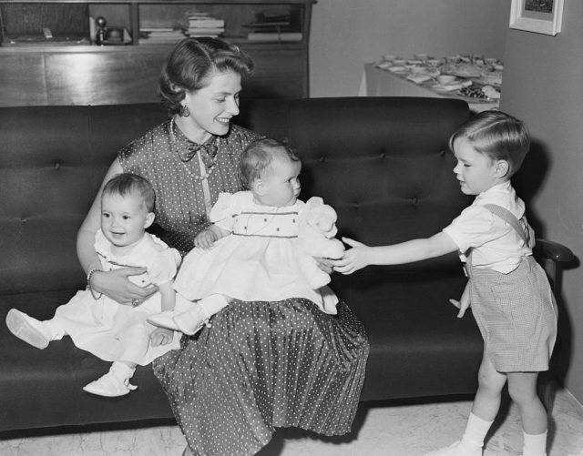
[{"label": "white dress of the smiling baby seated on the left", "polygon": [[[124,256],[115,255],[112,245],[97,231],[95,249],[101,268],[111,270],[139,266],[148,272],[130,276],[140,287],[153,283],[160,285],[173,279],[180,262],[178,250],[146,233],[136,246]],[[121,305],[105,295],[94,299],[91,291],[78,291],[63,306],[56,309],[56,325],[65,330],[75,345],[107,361],[132,361],[145,366],[169,350],[179,348],[180,333],[175,332],[168,345],[151,347],[149,335],[155,329],[146,319],[161,311],[160,293],[155,293],[136,308]]]}]

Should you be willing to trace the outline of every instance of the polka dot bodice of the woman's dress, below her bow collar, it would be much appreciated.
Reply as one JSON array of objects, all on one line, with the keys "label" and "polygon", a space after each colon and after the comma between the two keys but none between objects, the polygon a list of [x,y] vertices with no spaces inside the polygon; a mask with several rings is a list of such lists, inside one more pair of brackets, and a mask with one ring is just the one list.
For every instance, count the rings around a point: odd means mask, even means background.
[{"label": "polka dot bodice of the woman's dress, below her bow collar", "polygon": [[[146,177],[156,191],[156,222],[166,231],[163,240],[182,254],[194,248],[194,237],[209,226],[199,160],[179,158],[179,151],[192,143],[179,128],[170,133],[172,123],[154,127],[142,137],[121,149],[119,162],[125,172]],[[207,182],[211,204],[220,192],[234,193],[241,189],[240,155],[247,145],[260,136],[242,127],[231,126],[230,134],[217,137],[218,152],[213,173]]]}]

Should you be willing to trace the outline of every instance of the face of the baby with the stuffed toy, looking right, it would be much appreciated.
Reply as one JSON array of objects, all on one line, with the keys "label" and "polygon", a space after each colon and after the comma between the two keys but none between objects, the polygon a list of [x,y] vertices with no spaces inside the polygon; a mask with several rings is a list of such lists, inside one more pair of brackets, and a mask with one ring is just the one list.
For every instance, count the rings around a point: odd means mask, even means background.
[{"label": "face of the baby with the stuffed toy, looking right", "polygon": [[271,163],[271,169],[262,177],[265,193],[261,203],[281,208],[292,206],[300,196],[300,171],[302,162],[289,157],[278,157]]}]

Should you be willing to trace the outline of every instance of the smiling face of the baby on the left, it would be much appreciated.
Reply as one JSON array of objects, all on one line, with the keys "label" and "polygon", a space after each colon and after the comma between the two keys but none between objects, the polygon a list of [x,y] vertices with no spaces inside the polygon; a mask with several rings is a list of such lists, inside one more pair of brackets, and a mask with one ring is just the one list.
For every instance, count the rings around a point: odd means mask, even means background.
[{"label": "smiling face of the baby on the left", "polygon": [[104,194],[101,197],[101,231],[117,247],[135,244],[154,221],[138,195]]}]

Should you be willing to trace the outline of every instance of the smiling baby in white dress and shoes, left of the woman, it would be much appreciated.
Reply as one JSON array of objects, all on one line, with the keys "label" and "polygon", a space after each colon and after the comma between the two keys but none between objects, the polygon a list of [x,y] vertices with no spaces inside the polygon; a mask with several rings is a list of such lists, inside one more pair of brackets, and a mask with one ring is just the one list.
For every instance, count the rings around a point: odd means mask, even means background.
[{"label": "smiling baby in white dress and shoes, left of the woman", "polygon": [[[154,198],[153,188],[143,177],[124,173],[109,180],[102,192],[101,228],[95,238],[101,269],[89,272],[87,289],[59,306],[52,319],[40,321],[17,309],[6,315],[8,329],[37,349],[67,335],[78,348],[113,361],[107,374],[84,387],[93,394],[128,394],[136,389],[129,380],[138,364],[145,366],[179,348],[179,332],[146,321],[150,314],[174,308],[172,283],[180,262],[178,250],[145,231],[154,221]],[[91,289],[94,272],[123,267],[147,269],[128,278],[142,287],[154,284],[158,291],[142,303],[122,305]]]}]

